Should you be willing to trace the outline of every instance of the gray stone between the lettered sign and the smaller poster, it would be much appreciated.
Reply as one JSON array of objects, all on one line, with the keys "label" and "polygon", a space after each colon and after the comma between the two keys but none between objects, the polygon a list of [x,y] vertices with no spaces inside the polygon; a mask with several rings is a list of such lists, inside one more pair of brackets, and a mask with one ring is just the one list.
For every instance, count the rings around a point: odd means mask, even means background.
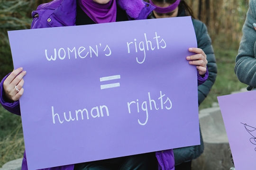
[{"label": "gray stone between the lettered sign and the smaller poster", "polygon": [[192,170],[229,170],[229,140],[219,107],[203,109],[199,114],[204,152],[192,161]]}]

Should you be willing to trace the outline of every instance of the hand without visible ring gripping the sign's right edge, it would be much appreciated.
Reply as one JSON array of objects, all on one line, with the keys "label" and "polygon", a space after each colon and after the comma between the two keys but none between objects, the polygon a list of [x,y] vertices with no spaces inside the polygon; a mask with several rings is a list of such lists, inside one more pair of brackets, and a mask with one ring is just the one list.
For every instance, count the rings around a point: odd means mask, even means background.
[{"label": "hand without visible ring gripping the sign's right edge", "polygon": [[208,63],[206,54],[200,48],[189,48],[189,51],[197,53],[192,56],[187,56],[186,59],[190,60],[189,64],[196,65],[196,68],[199,71],[199,75],[204,75],[207,71],[206,65]]}]

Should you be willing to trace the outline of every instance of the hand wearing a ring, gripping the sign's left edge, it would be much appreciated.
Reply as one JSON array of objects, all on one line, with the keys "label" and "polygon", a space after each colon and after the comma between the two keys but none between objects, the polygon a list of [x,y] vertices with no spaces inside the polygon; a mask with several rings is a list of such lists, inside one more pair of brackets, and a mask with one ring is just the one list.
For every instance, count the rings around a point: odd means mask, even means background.
[{"label": "hand wearing a ring, gripping the sign's left edge", "polygon": [[26,75],[23,68],[17,68],[4,80],[3,88],[7,102],[18,101],[24,92],[22,88],[24,84],[23,76]]}]

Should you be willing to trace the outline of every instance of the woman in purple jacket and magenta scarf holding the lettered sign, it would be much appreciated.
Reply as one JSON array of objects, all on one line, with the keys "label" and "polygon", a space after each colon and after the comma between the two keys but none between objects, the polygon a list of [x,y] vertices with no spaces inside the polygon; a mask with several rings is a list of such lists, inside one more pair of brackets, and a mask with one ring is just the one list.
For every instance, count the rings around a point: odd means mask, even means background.
[{"label": "woman in purple jacket and magenta scarf holding the lettered sign", "polygon": [[[54,0],[32,12],[31,28],[78,26],[146,19],[155,7],[143,0]],[[77,33],[79,34],[79,33]],[[190,51],[200,53],[200,49]],[[205,55],[192,55],[189,64],[198,69],[198,84],[208,78]],[[23,68],[4,77],[0,84],[0,103],[10,112],[20,115],[19,98],[24,93]],[[26,93],[26,92],[25,92]],[[39,153],[38,153],[39,154]],[[58,159],[58,158],[56,158]],[[48,168],[47,170],[174,170],[173,150],[143,153],[107,160],[84,162]],[[27,170],[26,153],[22,170]]]}]

